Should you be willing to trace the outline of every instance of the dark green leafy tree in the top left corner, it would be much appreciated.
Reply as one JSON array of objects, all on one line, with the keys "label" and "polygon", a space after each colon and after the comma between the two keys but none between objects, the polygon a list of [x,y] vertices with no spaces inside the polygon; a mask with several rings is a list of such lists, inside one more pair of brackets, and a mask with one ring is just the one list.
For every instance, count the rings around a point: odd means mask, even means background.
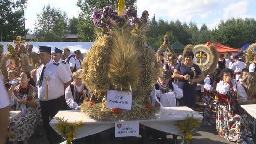
[{"label": "dark green leafy tree in the top left corner", "polygon": [[12,41],[25,36],[24,9],[27,0],[0,0],[0,40]]}]

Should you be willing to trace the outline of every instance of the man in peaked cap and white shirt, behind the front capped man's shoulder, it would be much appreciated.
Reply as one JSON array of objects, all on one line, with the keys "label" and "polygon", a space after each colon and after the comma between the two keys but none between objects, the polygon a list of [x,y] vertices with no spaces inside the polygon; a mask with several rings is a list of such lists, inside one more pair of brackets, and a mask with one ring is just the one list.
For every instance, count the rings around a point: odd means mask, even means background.
[{"label": "man in peaked cap and white shirt, behind the front capped man's shoulder", "polygon": [[68,71],[69,75],[72,77],[72,72],[70,70],[69,64],[63,59],[61,59],[62,58],[61,54],[62,54],[62,50],[55,47],[54,51],[52,52],[53,61],[55,63],[62,64],[65,67],[65,69]]}]

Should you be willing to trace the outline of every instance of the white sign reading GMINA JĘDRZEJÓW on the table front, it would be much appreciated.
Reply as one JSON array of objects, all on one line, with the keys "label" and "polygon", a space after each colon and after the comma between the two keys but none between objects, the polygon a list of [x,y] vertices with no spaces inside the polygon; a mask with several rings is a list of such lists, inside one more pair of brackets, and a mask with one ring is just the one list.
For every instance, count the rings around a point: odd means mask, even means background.
[{"label": "white sign reading GMINA J\u0118DRZEJ\u00d3W on the table front", "polygon": [[115,122],[115,137],[138,136],[139,121]]}]

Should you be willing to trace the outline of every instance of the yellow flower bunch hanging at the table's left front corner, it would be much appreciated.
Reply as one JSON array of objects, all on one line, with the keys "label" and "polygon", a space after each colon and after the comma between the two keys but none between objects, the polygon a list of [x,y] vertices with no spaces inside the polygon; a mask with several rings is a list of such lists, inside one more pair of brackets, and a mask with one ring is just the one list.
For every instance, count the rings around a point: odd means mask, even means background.
[{"label": "yellow flower bunch hanging at the table's left front corner", "polygon": [[55,117],[58,121],[57,130],[61,133],[61,137],[67,140],[68,144],[71,144],[71,141],[75,138],[76,129],[82,125],[82,119],[76,123],[68,123],[64,118]]}]

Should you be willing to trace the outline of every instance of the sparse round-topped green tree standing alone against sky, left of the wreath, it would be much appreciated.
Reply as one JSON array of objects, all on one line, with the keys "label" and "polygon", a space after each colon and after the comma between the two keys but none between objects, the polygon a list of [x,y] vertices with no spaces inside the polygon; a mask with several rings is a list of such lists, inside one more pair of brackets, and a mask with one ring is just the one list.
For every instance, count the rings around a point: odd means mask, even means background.
[{"label": "sparse round-topped green tree standing alone against sky, left of the wreath", "polygon": [[50,4],[43,7],[37,14],[35,22],[36,41],[63,41],[67,34],[67,14],[60,9],[51,8]]}]

